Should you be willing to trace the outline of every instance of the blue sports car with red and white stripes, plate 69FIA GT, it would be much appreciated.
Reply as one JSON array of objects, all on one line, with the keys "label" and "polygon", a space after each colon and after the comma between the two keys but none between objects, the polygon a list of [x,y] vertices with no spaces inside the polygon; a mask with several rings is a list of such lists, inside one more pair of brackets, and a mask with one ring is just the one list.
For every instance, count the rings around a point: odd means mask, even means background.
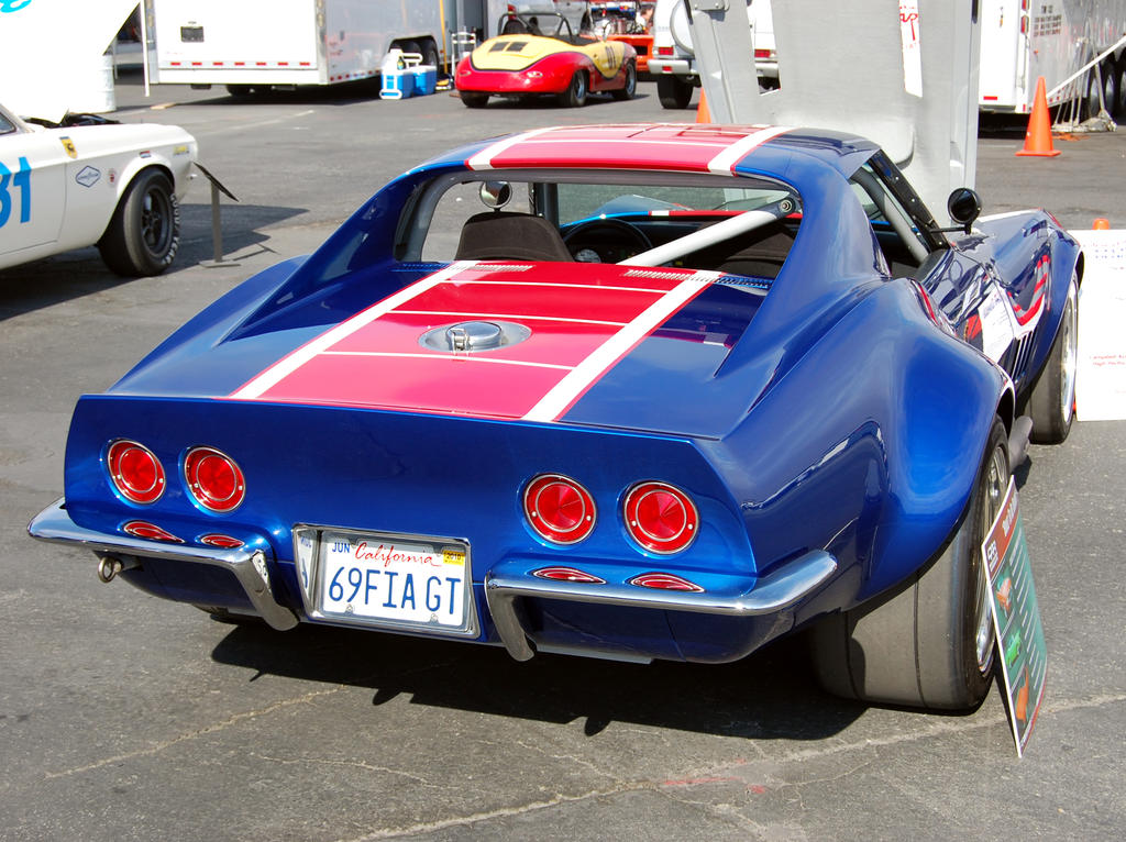
[{"label": "blue sports car with red and white stripes, plate 69FIA GT", "polygon": [[971,708],[982,536],[1067,436],[1083,271],[980,209],[940,227],[823,131],[456,150],[83,396],[30,532],[277,629],[697,662],[808,629],[833,692]]}]

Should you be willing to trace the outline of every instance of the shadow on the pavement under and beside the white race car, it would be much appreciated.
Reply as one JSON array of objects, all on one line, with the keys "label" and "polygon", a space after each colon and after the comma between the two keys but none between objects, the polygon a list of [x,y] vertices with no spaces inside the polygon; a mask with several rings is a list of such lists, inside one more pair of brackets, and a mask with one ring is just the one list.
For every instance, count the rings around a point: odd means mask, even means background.
[{"label": "shadow on the pavement under and beside the white race car", "polygon": [[[230,205],[222,208],[223,251],[265,249],[270,239],[261,229],[306,213],[300,207]],[[214,257],[209,204],[180,206],[180,249],[172,270]],[[0,269],[0,321],[81,298],[144,278],[123,278],[101,261],[97,248],[74,249],[43,260]]]}]

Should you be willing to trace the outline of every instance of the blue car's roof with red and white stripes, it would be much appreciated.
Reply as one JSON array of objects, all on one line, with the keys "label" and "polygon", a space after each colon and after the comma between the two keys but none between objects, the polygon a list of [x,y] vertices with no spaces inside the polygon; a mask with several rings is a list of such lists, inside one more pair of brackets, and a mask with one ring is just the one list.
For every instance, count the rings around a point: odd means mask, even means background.
[{"label": "blue car's roof with red and white stripes", "polygon": [[[457,150],[474,170],[619,169],[784,176],[795,158],[846,178],[878,146],[856,135],[788,126],[653,123],[538,128]],[[783,159],[778,155],[781,153]]]}]

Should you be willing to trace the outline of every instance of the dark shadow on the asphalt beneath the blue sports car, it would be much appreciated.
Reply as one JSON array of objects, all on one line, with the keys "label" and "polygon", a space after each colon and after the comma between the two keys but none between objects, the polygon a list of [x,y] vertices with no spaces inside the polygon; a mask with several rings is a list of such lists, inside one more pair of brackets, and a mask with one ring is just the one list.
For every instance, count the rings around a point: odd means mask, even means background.
[{"label": "dark shadow on the asphalt beneath the blue sports car", "polygon": [[631,664],[540,654],[519,663],[499,647],[302,625],[280,634],[238,625],[212,652],[222,664],[373,691],[372,705],[411,704],[519,719],[611,723],[754,740],[823,740],[866,709],[826,696],[804,639],[767,646],[733,664]]}]

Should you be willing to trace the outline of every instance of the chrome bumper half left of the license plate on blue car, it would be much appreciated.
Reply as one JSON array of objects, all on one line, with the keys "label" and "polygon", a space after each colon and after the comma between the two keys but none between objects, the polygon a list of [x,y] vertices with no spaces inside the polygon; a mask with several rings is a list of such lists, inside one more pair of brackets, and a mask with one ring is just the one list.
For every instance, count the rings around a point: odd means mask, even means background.
[{"label": "chrome bumper half left of the license plate on blue car", "polygon": [[[274,599],[269,573],[266,570],[266,554],[259,548],[203,549],[176,544],[159,544],[125,535],[109,536],[78,526],[66,513],[66,501],[60,498],[39,512],[28,525],[27,532],[33,538],[53,544],[78,544],[91,549],[100,557],[167,558],[169,561],[195,562],[224,567],[247,592],[247,599],[254,610],[272,628],[280,632],[297,625],[297,616]],[[125,565],[128,566],[128,565]]]}]

